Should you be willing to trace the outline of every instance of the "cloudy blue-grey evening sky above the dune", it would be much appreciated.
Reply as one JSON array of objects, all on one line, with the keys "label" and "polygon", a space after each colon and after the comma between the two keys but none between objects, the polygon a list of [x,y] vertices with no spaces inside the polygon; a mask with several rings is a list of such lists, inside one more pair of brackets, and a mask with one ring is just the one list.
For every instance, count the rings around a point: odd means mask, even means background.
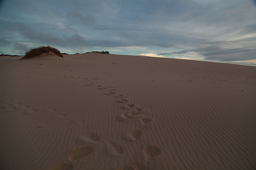
[{"label": "cloudy blue-grey evening sky above the dune", "polygon": [[0,0],[0,54],[40,45],[256,66],[256,1]]}]

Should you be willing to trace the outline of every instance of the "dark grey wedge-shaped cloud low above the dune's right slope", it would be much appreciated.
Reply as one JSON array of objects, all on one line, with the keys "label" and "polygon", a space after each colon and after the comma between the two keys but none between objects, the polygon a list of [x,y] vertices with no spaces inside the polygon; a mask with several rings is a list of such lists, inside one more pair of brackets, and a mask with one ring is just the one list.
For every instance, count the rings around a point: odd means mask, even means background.
[{"label": "dark grey wedge-shaped cloud low above the dune's right slope", "polygon": [[194,54],[204,56],[205,60],[221,62],[246,61],[256,58],[256,38],[246,38],[236,41],[206,42],[200,44],[200,46],[200,48],[160,53],[158,55]]}]

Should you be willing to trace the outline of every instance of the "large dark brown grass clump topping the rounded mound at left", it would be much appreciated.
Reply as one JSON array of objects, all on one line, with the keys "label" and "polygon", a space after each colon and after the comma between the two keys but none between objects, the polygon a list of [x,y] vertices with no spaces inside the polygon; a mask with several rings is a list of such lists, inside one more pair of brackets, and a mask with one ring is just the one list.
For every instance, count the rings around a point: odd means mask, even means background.
[{"label": "large dark brown grass clump topping the rounded mound at left", "polygon": [[44,56],[44,55],[54,55],[54,56],[63,58],[63,55],[60,53],[60,51],[58,49],[52,48],[50,46],[46,46],[46,47],[39,46],[39,47],[30,48],[30,50],[26,52],[25,56],[22,57],[20,60],[36,58],[36,57]]}]

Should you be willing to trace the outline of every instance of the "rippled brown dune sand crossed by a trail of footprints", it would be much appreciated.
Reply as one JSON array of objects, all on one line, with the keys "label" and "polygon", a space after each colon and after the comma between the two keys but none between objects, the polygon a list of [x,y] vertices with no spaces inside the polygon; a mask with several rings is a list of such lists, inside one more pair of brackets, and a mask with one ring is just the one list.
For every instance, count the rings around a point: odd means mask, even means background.
[{"label": "rippled brown dune sand crossed by a trail of footprints", "polygon": [[256,67],[0,57],[0,169],[256,169]]}]

